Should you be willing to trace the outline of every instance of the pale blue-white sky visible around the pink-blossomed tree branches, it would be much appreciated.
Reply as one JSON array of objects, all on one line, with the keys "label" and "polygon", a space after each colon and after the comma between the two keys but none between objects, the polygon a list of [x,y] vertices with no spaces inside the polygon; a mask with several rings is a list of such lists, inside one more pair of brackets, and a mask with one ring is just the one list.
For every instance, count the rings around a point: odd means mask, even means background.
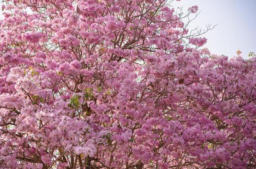
[{"label": "pale blue-white sky visible around the pink-blossomed tree branches", "polygon": [[211,53],[232,57],[239,49],[243,58],[248,58],[249,52],[256,53],[256,0],[174,0],[171,5],[183,7],[184,13],[193,5],[199,7],[200,14],[188,26],[190,30],[218,24],[202,35],[207,38],[204,47]]}]

